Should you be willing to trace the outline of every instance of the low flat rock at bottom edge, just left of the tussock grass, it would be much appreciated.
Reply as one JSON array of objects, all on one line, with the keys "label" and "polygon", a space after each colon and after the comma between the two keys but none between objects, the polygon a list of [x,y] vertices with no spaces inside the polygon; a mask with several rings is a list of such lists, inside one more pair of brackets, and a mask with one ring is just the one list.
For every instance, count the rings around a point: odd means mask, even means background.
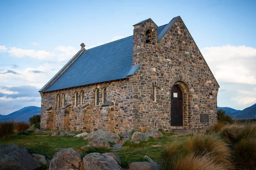
[{"label": "low flat rock at bottom edge, just left of the tussock grass", "polygon": [[149,162],[133,162],[130,164],[129,170],[160,170],[160,165]]}]

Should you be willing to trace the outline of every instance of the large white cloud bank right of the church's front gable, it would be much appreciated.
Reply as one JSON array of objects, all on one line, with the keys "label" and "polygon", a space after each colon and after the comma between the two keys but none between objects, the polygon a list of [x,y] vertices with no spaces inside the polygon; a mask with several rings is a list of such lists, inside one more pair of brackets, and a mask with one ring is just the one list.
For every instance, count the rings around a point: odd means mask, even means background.
[{"label": "large white cloud bank right of the church's front gable", "polygon": [[256,85],[256,49],[225,45],[201,50],[217,81]]}]

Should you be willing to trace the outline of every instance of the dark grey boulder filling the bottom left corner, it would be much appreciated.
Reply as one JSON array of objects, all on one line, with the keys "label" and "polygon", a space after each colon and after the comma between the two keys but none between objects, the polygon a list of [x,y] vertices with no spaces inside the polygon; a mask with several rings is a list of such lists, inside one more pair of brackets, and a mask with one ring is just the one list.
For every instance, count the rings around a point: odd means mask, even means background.
[{"label": "dark grey boulder filling the bottom left corner", "polygon": [[0,170],[34,170],[41,165],[29,150],[16,144],[0,145]]}]

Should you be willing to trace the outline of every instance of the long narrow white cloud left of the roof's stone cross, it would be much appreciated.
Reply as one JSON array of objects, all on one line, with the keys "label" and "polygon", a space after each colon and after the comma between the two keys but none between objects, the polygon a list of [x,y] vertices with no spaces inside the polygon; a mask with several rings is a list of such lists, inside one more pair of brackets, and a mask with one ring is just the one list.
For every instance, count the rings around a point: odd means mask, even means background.
[{"label": "long narrow white cloud left of the roof's stone cross", "polygon": [[50,57],[55,56],[55,54],[49,53],[44,50],[25,50],[22,48],[16,48],[12,47],[8,51],[9,55],[15,56],[15,57],[32,57],[32,58],[37,58],[37,59],[48,59]]}]

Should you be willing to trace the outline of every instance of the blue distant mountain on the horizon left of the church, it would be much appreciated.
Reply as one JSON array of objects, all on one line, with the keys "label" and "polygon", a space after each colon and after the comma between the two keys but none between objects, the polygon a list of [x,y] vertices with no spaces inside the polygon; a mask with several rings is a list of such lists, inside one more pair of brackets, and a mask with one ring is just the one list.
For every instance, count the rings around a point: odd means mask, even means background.
[{"label": "blue distant mountain on the horizon left of the church", "polygon": [[41,114],[41,108],[36,106],[29,106],[8,115],[0,115],[0,121],[28,121],[31,116],[34,116],[36,114]]}]

